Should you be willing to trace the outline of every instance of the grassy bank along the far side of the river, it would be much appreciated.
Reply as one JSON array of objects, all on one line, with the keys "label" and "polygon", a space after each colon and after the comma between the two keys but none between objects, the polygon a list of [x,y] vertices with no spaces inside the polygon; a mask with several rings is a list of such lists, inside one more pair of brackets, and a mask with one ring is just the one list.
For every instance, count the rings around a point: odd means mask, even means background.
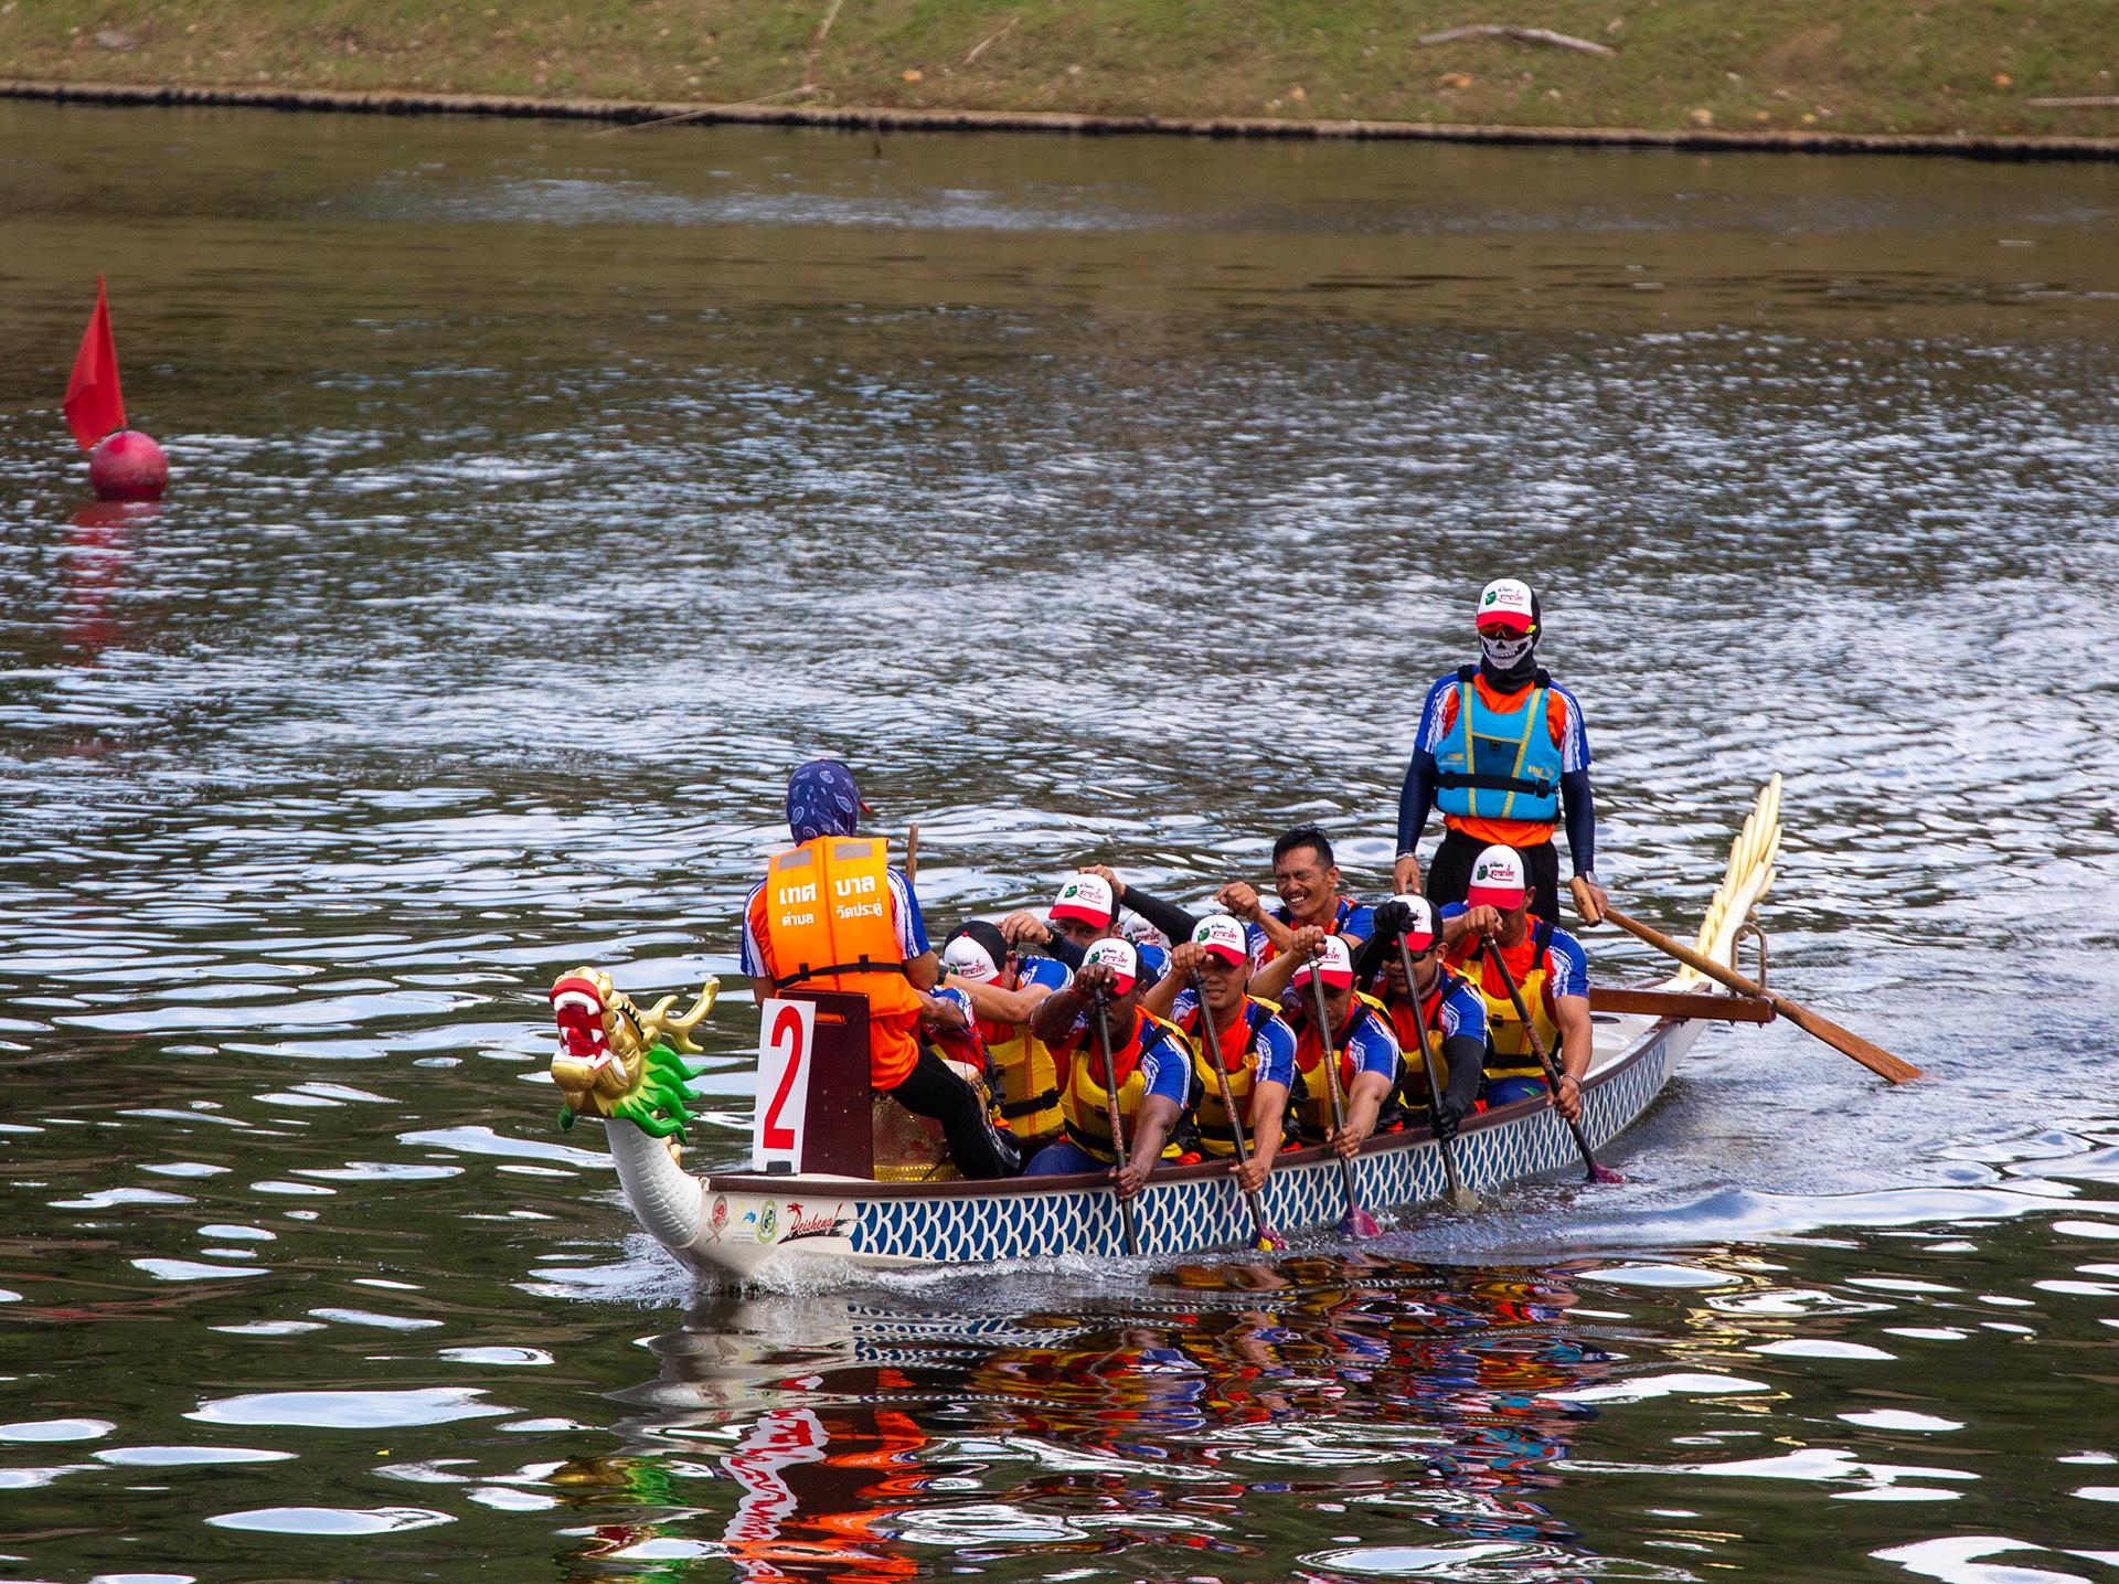
[{"label": "grassy bank along the far side of the river", "polygon": [[[1471,23],[1543,28],[1610,53],[1422,42]],[[2119,0],[6,0],[0,76],[2115,136]]]}]

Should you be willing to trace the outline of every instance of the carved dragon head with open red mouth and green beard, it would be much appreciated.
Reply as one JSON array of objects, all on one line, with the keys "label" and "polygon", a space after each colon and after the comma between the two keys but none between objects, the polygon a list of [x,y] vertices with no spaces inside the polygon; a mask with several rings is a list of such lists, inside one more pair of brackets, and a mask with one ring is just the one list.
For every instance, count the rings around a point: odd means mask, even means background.
[{"label": "carved dragon head with open red mouth and green beard", "polygon": [[720,980],[708,980],[682,1018],[672,1014],[667,995],[642,1011],[623,990],[612,988],[602,969],[578,967],[551,986],[551,1014],[559,1024],[559,1054],[551,1077],[566,1098],[562,1126],[574,1113],[595,1111],[627,1117],[655,1137],[684,1134],[682,1054],[697,1056],[691,1031],[699,1026],[720,995]]}]

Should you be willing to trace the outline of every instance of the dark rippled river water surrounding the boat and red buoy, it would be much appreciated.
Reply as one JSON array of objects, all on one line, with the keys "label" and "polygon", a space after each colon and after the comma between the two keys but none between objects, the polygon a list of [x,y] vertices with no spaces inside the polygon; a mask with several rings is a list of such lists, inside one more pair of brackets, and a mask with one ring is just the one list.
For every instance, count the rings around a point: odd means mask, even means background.
[{"label": "dark rippled river water surrounding the boat and red buoy", "polygon": [[[0,1571],[2119,1580],[2119,170],[0,106]],[[95,271],[159,511],[59,422]],[[1280,1262],[697,1291],[542,990],[1320,819],[1521,573],[1788,1024]],[[1589,935],[1608,982],[1661,969]]]}]

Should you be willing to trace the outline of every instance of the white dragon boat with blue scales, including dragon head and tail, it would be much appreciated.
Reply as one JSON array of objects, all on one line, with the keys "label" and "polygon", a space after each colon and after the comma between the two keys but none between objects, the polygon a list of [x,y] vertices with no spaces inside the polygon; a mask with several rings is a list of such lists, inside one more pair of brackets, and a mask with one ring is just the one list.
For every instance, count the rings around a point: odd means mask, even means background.
[{"label": "white dragon boat with blue scales, including dragon head and tail", "polygon": [[[1727,874],[1708,903],[1695,950],[1735,967],[1744,935],[1759,937],[1759,980],[1765,978],[1765,937],[1755,903],[1774,880],[1780,850],[1780,776],[1759,793],[1731,852]],[[799,1162],[769,1162],[771,1171],[716,1171],[699,1177],[682,1166],[691,1069],[699,1054],[691,1033],[714,1005],[718,982],[708,980],[695,1005],[674,1014],[676,997],[651,1009],[615,990],[593,967],[562,975],[551,990],[562,1050],[553,1081],[566,1101],[562,1126],[576,1117],[602,1120],[625,1200],[640,1226],[701,1274],[746,1281],[767,1264],[799,1262],[829,1270],[896,1270],[962,1266],[1004,1260],[1093,1260],[1125,1255],[1125,1228],[1110,1177],[1019,1177],[1009,1181],[939,1181],[930,1171],[911,1181],[833,1171],[835,1151],[818,1147]],[[860,1003],[860,997],[818,995],[818,1001]],[[771,1003],[784,1005],[784,1003]],[[1591,1147],[1602,1147],[1632,1126],[1655,1101],[1672,1069],[1708,1022],[1771,1022],[1769,1001],[1716,990],[1704,975],[1682,969],[1640,988],[1591,988],[1596,1031],[1589,1075],[1583,1081],[1581,1126]],[[818,1022],[837,1014],[818,1011]],[[852,1064],[852,1062],[848,1062]],[[867,1043],[858,1050],[860,1109]],[[782,1086],[784,1092],[784,1086]],[[820,1115],[812,1092],[812,1134],[843,1141],[858,1130],[867,1160],[871,1117],[829,1111]],[[761,1107],[767,1096],[761,1086]],[[875,1096],[882,1111],[894,1103]],[[898,1124],[905,1115],[898,1113]],[[884,1134],[884,1120],[873,1122]],[[1479,1111],[1464,1120],[1456,1141],[1458,1175],[1471,1190],[1494,1190],[1526,1177],[1581,1166],[1581,1151],[1551,1103],[1543,1096]],[[754,1160],[756,1166],[756,1160]],[[903,1175],[903,1173],[898,1173]],[[1426,1128],[1367,1139],[1354,1158],[1363,1204],[1405,1211],[1439,1200],[1445,1190],[1441,1149]],[[1252,1240],[1250,1215],[1225,1160],[1159,1168],[1136,1200],[1142,1257],[1240,1249]],[[1329,1234],[1346,1209],[1335,1156],[1322,1147],[1282,1149],[1263,1190],[1267,1221],[1284,1234]]]}]

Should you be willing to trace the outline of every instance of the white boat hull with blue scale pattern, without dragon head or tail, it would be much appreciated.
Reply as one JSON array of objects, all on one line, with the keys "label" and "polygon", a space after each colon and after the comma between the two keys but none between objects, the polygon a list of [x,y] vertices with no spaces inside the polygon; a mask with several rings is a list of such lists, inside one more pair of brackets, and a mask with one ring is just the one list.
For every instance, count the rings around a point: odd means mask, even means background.
[{"label": "white boat hull with blue scale pattern, without dragon head or tail", "polygon": [[[1608,1143],[1649,1109],[1702,1028],[1695,1020],[1623,1022],[1627,1039],[1591,1067],[1583,1092],[1583,1130],[1591,1145]],[[1468,1187],[1492,1190],[1579,1168],[1581,1154],[1566,1124],[1541,1098],[1466,1122],[1456,1162]],[[1445,1187],[1441,1151],[1426,1130],[1371,1139],[1354,1162],[1354,1175],[1371,1211],[1426,1204]],[[682,1245],[665,1243],[701,1272],[735,1279],[793,1260],[888,1270],[1127,1253],[1119,1202],[1102,1175],[869,1183],[731,1173],[708,1179],[699,1202],[697,1234]],[[1280,1232],[1333,1228],[1346,1211],[1335,1160],[1318,1149],[1282,1151],[1263,1202],[1267,1221]],[[1140,1255],[1235,1249],[1252,1238],[1250,1213],[1225,1164],[1157,1173],[1136,1207]]]}]

